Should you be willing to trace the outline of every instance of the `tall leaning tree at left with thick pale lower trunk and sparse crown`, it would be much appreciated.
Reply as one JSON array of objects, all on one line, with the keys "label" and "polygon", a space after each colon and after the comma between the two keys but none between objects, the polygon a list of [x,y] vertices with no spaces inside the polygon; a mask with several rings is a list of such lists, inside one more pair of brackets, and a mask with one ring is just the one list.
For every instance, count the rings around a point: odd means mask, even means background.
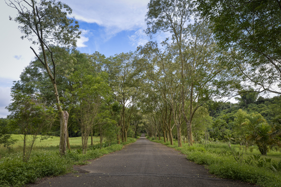
[{"label": "tall leaning tree at left with thick pale lower trunk and sparse crown", "polygon": [[[54,95],[56,98],[57,109],[60,118],[60,154],[66,150],[66,128],[68,112],[63,111],[56,81],[56,61],[53,58],[53,51],[50,46],[59,44],[62,46],[76,46],[76,39],[81,33],[78,22],[73,18],[68,18],[72,9],[65,3],[56,0],[8,0],[10,7],[17,9],[18,16],[14,19],[20,24],[19,29],[24,34],[22,38],[28,38],[33,44],[39,44],[43,54],[41,58],[33,47],[30,47],[39,61],[43,64],[53,84]],[[12,19],[10,17],[10,19]],[[51,53],[51,59],[47,59],[46,51]],[[50,63],[53,69],[50,69]]]}]

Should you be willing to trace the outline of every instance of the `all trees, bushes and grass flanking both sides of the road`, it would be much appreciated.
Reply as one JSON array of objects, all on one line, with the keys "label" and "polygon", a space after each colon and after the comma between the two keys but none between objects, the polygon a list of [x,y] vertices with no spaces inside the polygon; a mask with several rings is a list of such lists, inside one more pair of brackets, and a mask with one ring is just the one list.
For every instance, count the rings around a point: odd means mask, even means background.
[{"label": "all trees, bushes and grass flanking both sides of the road", "polygon": [[279,0],[150,0],[145,32],[167,38],[112,56],[76,48],[81,31],[67,4],[6,2],[35,58],[0,118],[5,185],[66,173],[141,132],[211,173],[281,183]]}]

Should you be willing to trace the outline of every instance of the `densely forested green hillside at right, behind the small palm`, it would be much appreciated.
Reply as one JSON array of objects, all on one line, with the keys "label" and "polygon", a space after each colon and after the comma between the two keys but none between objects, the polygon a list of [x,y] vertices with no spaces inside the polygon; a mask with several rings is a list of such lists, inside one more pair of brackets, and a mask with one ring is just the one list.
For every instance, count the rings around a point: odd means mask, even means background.
[{"label": "densely forested green hillside at right, behind the small palm", "polygon": [[261,114],[268,124],[274,118],[280,116],[281,97],[264,98],[258,93],[251,92],[247,95],[237,97],[238,103],[212,102],[209,107],[209,115],[213,117],[213,122],[209,127],[210,137],[214,140],[223,140],[225,135],[235,136],[233,131],[237,121],[245,122],[245,116]]}]

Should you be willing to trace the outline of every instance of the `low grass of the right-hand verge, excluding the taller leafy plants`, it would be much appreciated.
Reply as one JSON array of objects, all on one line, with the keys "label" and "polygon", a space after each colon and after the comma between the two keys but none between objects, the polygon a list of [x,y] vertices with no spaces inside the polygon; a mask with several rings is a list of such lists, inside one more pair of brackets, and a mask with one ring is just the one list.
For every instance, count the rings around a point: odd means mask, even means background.
[{"label": "low grass of the right-hand verge, excluding the taller leafy plants", "polygon": [[[151,137],[149,139],[180,150],[189,160],[206,165],[211,174],[266,187],[281,186],[280,171],[273,172],[270,170],[269,164],[259,167],[255,162],[253,164],[246,164],[243,161],[240,165],[235,161],[229,147],[225,143],[209,143],[207,145],[196,143],[193,146],[188,146],[187,143],[184,143],[183,147],[178,147],[177,141],[174,141],[174,145],[170,145],[170,142],[165,143],[163,140],[156,140]],[[247,151],[245,157],[247,158],[250,154],[252,153]],[[272,151],[271,154],[265,157],[270,157],[272,161],[280,160],[280,152]]]}]

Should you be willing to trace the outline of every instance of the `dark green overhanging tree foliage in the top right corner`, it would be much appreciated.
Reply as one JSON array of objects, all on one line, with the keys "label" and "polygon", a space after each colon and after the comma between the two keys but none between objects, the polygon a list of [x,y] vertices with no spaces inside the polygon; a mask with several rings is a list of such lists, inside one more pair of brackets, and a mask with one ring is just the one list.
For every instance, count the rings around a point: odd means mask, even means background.
[{"label": "dark green overhanging tree foliage in the top right corner", "polygon": [[281,1],[197,0],[214,24],[220,48],[231,53],[227,66],[241,71],[241,81],[257,91],[281,94]]}]

